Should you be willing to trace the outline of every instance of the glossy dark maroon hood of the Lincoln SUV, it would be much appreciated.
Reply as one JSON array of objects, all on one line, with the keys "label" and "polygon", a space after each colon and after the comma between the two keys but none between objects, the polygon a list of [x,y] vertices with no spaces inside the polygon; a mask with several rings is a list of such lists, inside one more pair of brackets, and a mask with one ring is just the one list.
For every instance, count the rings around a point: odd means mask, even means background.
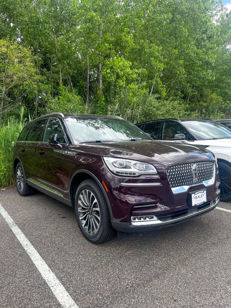
[{"label": "glossy dark maroon hood of the Lincoln SUV", "polygon": [[70,146],[69,149],[100,156],[140,160],[155,164],[158,169],[165,169],[166,166],[182,162],[213,159],[212,153],[207,149],[174,141],[142,140],[85,143]]}]

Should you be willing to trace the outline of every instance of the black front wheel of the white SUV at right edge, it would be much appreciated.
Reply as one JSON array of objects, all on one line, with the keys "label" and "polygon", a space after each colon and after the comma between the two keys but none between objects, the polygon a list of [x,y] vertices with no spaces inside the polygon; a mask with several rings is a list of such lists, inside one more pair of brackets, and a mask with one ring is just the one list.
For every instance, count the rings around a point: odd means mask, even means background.
[{"label": "black front wheel of the white SUV at right edge", "polygon": [[218,170],[221,180],[220,201],[227,202],[231,200],[231,166],[218,161]]}]

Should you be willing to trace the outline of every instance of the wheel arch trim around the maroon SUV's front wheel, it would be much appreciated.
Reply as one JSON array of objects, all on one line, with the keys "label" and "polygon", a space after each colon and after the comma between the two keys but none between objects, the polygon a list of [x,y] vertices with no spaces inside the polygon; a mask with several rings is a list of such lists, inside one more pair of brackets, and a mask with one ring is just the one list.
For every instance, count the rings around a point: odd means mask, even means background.
[{"label": "wheel arch trim around the maroon SUV's front wheel", "polygon": [[103,187],[103,185],[100,183],[99,179],[93,174],[91,173],[90,171],[88,170],[84,170],[84,169],[80,169],[80,170],[77,170],[71,177],[71,180],[70,180],[70,184],[69,184],[69,197],[70,197],[70,200],[71,200],[71,204],[73,206],[73,208],[75,207],[75,204],[74,204],[74,200],[75,200],[75,192],[76,192],[76,189],[78,188],[78,186],[85,180],[88,180],[88,179],[93,179],[96,181],[96,183],[99,185],[99,187],[101,188],[103,194],[104,194],[104,197],[106,199],[106,202],[107,202],[107,205],[108,205],[108,209],[109,209],[109,213],[110,213],[110,219],[113,220],[113,214],[112,214],[112,210],[111,210],[111,206],[110,206],[110,202],[108,200],[108,197],[107,197],[107,194],[105,192],[105,189]]}]

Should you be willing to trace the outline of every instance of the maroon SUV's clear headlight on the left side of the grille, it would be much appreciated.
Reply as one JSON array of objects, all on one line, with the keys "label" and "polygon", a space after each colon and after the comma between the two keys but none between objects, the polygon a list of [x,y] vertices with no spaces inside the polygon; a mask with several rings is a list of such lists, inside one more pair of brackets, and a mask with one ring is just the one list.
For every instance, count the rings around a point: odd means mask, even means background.
[{"label": "maroon SUV's clear headlight on the left side of the grille", "polygon": [[157,174],[156,168],[142,161],[104,157],[108,169],[121,176],[139,176],[141,174]]}]

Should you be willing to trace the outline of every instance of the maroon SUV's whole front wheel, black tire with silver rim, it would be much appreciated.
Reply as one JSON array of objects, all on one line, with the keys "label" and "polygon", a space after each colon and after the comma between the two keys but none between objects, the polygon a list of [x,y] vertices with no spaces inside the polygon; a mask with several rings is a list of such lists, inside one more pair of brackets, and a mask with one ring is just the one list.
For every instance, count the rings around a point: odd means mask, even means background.
[{"label": "maroon SUV's whole front wheel, black tire with silver rim", "polygon": [[78,186],[75,194],[75,214],[81,232],[90,242],[101,244],[115,236],[116,231],[111,225],[107,202],[96,181],[85,180]]}]

